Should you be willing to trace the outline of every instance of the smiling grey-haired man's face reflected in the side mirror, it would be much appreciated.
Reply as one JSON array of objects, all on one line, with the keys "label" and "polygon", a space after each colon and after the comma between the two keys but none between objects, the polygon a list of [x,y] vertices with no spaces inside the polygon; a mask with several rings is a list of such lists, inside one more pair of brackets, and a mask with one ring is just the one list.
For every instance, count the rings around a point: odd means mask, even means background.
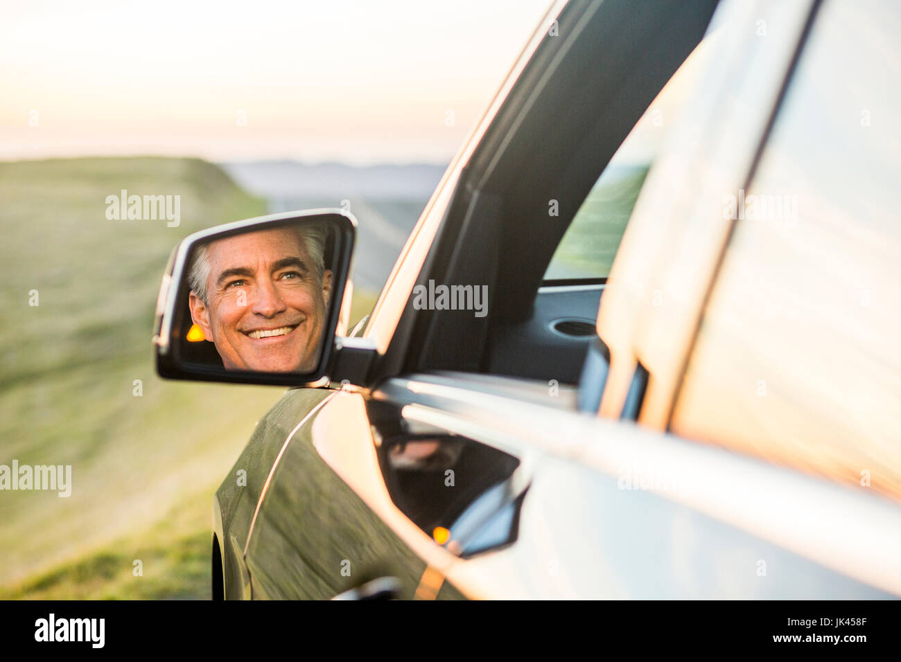
[{"label": "smiling grey-haired man's face reflected in the side mirror", "polygon": [[207,247],[208,302],[192,291],[191,317],[228,369],[310,372],[318,358],[332,272],[320,283],[304,240],[279,228]]}]

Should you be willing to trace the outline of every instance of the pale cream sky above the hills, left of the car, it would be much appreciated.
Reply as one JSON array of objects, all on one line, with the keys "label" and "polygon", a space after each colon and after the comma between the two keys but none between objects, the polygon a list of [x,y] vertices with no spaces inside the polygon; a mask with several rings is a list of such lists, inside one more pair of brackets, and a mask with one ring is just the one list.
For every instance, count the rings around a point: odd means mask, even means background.
[{"label": "pale cream sky above the hills, left of the car", "polygon": [[366,164],[451,159],[551,2],[10,5],[0,159]]}]

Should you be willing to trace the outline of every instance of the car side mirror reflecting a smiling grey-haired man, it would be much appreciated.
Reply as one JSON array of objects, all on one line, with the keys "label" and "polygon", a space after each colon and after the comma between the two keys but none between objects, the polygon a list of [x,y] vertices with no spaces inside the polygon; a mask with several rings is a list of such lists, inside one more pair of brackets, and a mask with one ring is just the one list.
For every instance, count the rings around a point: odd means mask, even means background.
[{"label": "car side mirror reflecting a smiling grey-haired man", "polygon": [[183,240],[159,290],[159,375],[268,385],[322,380],[336,349],[356,227],[350,213],[312,210]]}]

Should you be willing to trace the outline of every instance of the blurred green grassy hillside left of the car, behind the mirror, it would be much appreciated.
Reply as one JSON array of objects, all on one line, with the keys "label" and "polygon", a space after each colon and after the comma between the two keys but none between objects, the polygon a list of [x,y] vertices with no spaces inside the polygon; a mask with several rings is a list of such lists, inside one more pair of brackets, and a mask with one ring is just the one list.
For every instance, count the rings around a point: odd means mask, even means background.
[{"label": "blurred green grassy hillside left of the car, behind the mirror", "polygon": [[[107,220],[121,189],[180,225]],[[212,494],[283,389],[160,380],[153,309],[178,240],[262,213],[199,159],[0,163],[0,464],[72,467],[68,498],[0,492],[0,598],[209,597]]]}]

